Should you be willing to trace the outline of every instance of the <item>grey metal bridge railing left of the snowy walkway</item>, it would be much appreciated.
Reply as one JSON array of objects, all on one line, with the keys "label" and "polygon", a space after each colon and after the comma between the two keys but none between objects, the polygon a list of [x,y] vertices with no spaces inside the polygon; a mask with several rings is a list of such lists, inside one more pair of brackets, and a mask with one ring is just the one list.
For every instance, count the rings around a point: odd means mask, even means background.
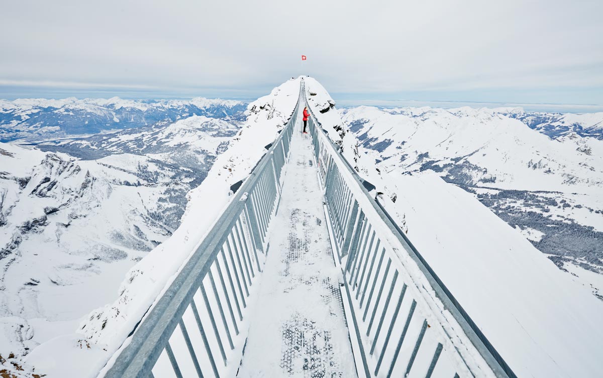
[{"label": "grey metal bridge railing left of the snowy walkway", "polygon": [[104,377],[235,376],[299,105]]}]

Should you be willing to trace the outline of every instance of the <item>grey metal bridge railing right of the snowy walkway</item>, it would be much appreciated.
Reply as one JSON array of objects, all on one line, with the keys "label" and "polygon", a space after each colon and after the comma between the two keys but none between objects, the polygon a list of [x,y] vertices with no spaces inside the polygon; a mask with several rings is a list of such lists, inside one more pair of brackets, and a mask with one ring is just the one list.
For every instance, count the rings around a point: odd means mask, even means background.
[{"label": "grey metal bridge railing right of the snowy walkway", "polygon": [[350,336],[358,342],[359,377],[515,377],[371,198],[314,113],[308,125],[344,274]]}]

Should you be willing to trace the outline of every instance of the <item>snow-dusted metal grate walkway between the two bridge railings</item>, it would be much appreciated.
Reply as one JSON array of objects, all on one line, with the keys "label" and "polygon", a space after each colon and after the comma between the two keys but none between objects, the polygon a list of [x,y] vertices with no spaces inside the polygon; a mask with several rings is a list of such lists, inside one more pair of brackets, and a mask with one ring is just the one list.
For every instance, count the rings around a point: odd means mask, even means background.
[{"label": "snow-dusted metal grate walkway between the two bridge railings", "polygon": [[356,377],[312,152],[298,118],[238,377]]}]

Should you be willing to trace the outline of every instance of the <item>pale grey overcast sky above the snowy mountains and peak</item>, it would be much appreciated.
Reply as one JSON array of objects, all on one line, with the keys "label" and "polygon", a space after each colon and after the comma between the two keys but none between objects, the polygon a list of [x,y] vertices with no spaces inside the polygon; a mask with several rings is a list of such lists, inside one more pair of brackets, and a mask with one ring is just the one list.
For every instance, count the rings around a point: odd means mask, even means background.
[{"label": "pale grey overcast sky above the snowy mountains and peak", "polygon": [[[0,97],[603,104],[602,0],[0,0]],[[308,60],[301,61],[301,54]]]}]

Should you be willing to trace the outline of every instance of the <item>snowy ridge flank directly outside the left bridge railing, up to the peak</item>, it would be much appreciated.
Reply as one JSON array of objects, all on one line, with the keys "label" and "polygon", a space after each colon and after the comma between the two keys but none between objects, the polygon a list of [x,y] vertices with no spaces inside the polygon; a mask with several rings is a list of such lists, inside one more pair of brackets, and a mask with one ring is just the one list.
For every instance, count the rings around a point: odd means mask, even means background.
[{"label": "snowy ridge flank directly outside the left bridge railing, up to the peak", "polygon": [[[291,79],[248,105],[247,122],[229,149],[218,156],[203,183],[189,192],[180,227],[128,271],[115,302],[87,315],[77,333],[39,345],[28,356],[28,364],[49,378],[98,374],[226,208],[230,186],[248,176],[266,152],[264,146],[286,124],[295,108],[299,86],[299,79]],[[90,347],[80,347],[80,340]]]}]

